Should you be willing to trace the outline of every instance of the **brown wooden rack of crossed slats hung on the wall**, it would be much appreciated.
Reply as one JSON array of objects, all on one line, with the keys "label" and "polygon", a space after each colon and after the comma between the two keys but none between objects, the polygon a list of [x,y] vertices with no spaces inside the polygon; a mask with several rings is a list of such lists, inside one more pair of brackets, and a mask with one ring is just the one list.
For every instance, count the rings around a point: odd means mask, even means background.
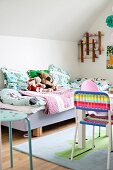
[{"label": "brown wooden rack of crossed slats hung on the wall", "polygon": [[[84,37],[79,42],[80,46],[80,59],[81,62],[84,62],[84,59],[90,59],[92,58],[92,62],[95,62],[95,59],[98,58],[98,55],[102,54],[102,43],[101,43],[101,37],[104,36],[101,31],[98,31],[97,34],[90,34],[86,32],[84,34]],[[92,57],[87,57],[92,55]]]}]

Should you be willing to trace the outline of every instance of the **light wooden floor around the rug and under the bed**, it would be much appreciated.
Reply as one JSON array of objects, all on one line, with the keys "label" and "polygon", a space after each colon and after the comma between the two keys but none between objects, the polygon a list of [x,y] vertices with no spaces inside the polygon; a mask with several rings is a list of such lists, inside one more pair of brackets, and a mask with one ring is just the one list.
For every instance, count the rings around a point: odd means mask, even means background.
[{"label": "light wooden floor around the rug and under the bed", "polygon": [[[74,126],[74,120],[58,123],[43,128],[43,136],[52,134],[56,131],[63,130]],[[13,144],[19,144],[27,141],[24,138],[24,132],[13,130]],[[35,139],[36,137],[33,137]],[[28,155],[13,151],[14,167],[9,166],[9,141],[8,141],[8,128],[2,127],[2,164],[3,170],[29,170],[29,158]],[[56,164],[44,161],[33,157],[33,170],[68,170],[67,168],[58,166]]]}]

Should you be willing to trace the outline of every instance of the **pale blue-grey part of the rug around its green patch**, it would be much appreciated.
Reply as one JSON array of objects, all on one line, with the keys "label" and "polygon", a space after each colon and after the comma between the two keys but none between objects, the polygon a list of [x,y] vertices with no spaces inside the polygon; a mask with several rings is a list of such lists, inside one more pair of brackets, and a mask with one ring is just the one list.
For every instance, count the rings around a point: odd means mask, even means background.
[{"label": "pale blue-grey part of the rug around its green patch", "polygon": [[[87,132],[87,136],[90,136],[91,128],[88,128]],[[66,141],[72,140],[73,136],[74,128],[70,128],[32,140],[33,156],[73,170],[106,170],[107,151],[105,150],[94,151],[80,160],[73,161],[56,155],[56,152],[71,148],[71,144]],[[16,145],[13,149],[28,153],[28,143]],[[113,170],[113,154],[111,154],[111,170]]]}]

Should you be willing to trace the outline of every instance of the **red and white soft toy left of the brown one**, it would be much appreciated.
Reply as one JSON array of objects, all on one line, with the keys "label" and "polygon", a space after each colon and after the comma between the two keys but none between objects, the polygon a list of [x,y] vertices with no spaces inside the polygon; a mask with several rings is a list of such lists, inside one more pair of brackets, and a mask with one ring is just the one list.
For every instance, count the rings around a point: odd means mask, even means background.
[{"label": "red and white soft toy left of the brown one", "polygon": [[41,83],[40,77],[30,78],[28,81],[28,90],[41,92],[45,85]]}]

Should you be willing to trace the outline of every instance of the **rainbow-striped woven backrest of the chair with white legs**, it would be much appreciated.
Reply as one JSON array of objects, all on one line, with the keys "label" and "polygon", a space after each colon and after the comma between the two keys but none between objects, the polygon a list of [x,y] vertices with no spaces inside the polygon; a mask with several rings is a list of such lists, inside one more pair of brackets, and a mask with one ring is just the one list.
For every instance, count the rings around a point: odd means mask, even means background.
[{"label": "rainbow-striped woven backrest of the chair with white legs", "polygon": [[76,91],[74,105],[76,109],[108,112],[110,110],[110,98],[104,92]]}]

